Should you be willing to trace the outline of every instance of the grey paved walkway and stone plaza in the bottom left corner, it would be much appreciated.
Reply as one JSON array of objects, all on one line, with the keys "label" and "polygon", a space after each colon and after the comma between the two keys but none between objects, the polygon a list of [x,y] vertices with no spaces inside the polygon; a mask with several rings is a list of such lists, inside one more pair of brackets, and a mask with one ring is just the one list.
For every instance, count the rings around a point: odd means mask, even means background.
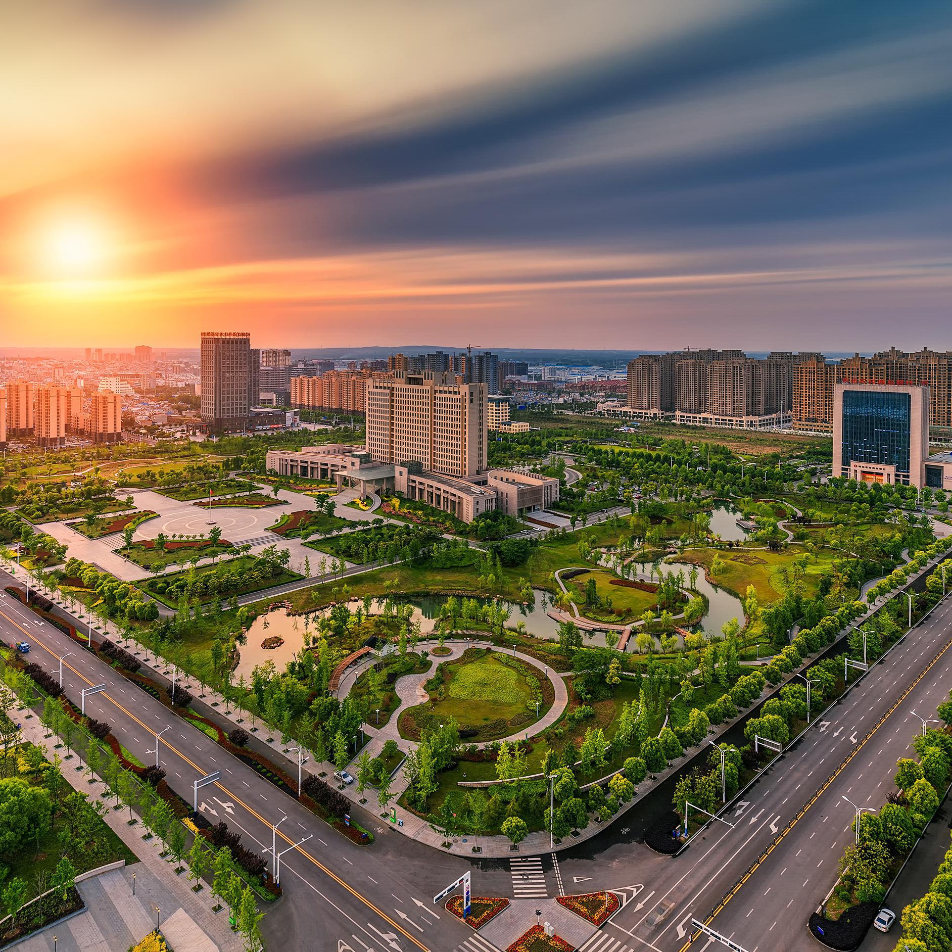
[{"label": "grey paved walkway and stone plaza in the bottom left corner", "polygon": [[[22,722],[21,733],[31,744],[42,747],[48,758],[54,753],[39,719]],[[56,751],[58,753],[58,751]],[[51,925],[17,945],[23,952],[48,952],[56,936],[57,952],[109,952],[128,949],[155,928],[155,907],[159,907],[159,924],[173,949],[188,952],[239,952],[241,939],[228,926],[228,913],[211,911],[214,901],[206,886],[197,895],[191,891],[188,876],[176,876],[171,863],[159,856],[162,847],[157,838],[142,839],[142,827],[128,826],[126,810],[113,811],[111,797],[105,798],[106,785],[89,783],[85,771],[72,769],[80,758],[63,764],[63,776],[90,800],[109,803],[105,821],[109,828],[129,846],[139,863],[112,870],[78,883],[87,909],[68,922]],[[132,875],[135,874],[135,896],[132,896]]]}]

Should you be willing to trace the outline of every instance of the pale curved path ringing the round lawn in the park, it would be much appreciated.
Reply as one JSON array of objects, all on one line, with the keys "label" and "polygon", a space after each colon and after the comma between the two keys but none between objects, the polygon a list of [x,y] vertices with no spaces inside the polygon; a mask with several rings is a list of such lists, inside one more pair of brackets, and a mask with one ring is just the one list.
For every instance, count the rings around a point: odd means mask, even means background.
[{"label": "pale curved path ringing the round lawn in the park", "polygon": [[[464,632],[464,634],[465,633],[466,632]],[[417,650],[432,652],[433,648],[437,647],[438,645],[439,642],[437,641],[420,642],[417,645]],[[430,654],[430,659],[436,664],[441,664],[445,661],[455,661],[456,659],[461,658],[467,648],[490,648],[491,650],[500,652],[501,654],[511,655],[513,658],[518,659],[524,664],[530,664],[532,667],[539,667],[539,662],[535,658],[531,657],[531,655],[522,654],[521,652],[515,650],[501,651],[499,645],[493,645],[492,642],[457,641],[452,643],[447,642],[445,646],[449,648],[449,654]],[[345,676],[341,679],[341,686],[337,690],[337,697],[341,700],[346,698],[357,679],[365,671],[367,671],[368,668],[372,667],[378,662],[378,658],[371,657],[362,664],[354,664],[353,667],[349,668]],[[533,724],[526,724],[526,728],[521,730],[518,734],[510,734],[508,737],[500,738],[501,741],[524,740],[526,738],[527,732],[538,734],[541,731],[544,731],[547,727],[550,727],[552,724],[555,724],[555,722],[558,721],[562,716],[562,713],[568,704],[568,688],[565,687],[565,681],[563,681],[559,674],[557,674],[555,671],[552,671],[547,666],[543,666],[545,667],[544,673],[549,680],[549,684],[552,685],[552,688],[555,691],[555,699],[552,702],[552,706],[549,707],[549,709],[538,721],[534,722]],[[400,706],[397,707],[397,709],[390,715],[390,719],[387,721],[387,724],[384,724],[382,727],[375,727],[373,724],[365,724],[365,733],[367,733],[367,735],[372,738],[379,738],[381,745],[383,745],[383,743],[386,741],[393,740],[398,744],[402,744],[404,748],[407,746],[415,747],[416,744],[413,741],[407,741],[401,738],[400,732],[397,729],[397,724],[400,721],[400,715],[405,710],[407,710],[407,707],[414,707],[417,704],[424,704],[426,702],[429,695],[426,693],[424,684],[426,684],[426,682],[433,677],[433,672],[435,670],[436,668],[434,666],[423,674],[405,674],[403,677],[398,678],[394,684],[394,689],[397,692],[397,697],[400,698]],[[476,744],[476,746],[486,747],[489,744],[496,743],[498,742],[484,741],[480,744]]]}]

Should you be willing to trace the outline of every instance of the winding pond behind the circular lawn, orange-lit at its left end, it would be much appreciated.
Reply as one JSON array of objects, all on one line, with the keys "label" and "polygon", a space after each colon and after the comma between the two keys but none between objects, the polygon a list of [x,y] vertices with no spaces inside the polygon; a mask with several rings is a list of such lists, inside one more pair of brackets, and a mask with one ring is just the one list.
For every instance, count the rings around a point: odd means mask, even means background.
[{"label": "winding pond behind the circular lawn, orange-lit at its left end", "polygon": [[[546,638],[554,640],[559,637],[559,623],[550,618],[546,612],[552,605],[551,596],[541,588],[534,588],[534,601],[532,605],[522,605],[521,603],[502,602],[509,608],[509,620],[507,625],[514,626],[518,622],[526,624],[526,631],[536,638]],[[410,616],[411,622],[419,623],[421,635],[428,635],[436,628],[436,620],[440,614],[440,608],[446,602],[447,595],[424,595],[418,598],[395,599],[404,605],[413,605],[413,614]],[[457,596],[459,598],[459,596]],[[489,605],[494,600],[478,598],[476,601],[480,605]],[[347,607],[351,611],[356,611],[359,605],[363,605],[361,599],[351,599]],[[248,644],[239,648],[239,660],[232,674],[231,680],[237,682],[239,678],[244,677],[248,682],[251,678],[251,672],[258,664],[272,661],[274,666],[283,671],[285,665],[294,657],[294,655],[305,646],[305,638],[309,644],[310,636],[317,631],[317,620],[330,611],[328,608],[322,608],[318,611],[310,612],[307,615],[288,615],[284,608],[273,608],[263,615],[259,615],[248,628]],[[383,614],[384,600],[374,599],[370,604],[370,613],[374,615]],[[277,648],[263,648],[261,643],[266,638],[273,638],[277,635],[284,638],[285,642]]]}]

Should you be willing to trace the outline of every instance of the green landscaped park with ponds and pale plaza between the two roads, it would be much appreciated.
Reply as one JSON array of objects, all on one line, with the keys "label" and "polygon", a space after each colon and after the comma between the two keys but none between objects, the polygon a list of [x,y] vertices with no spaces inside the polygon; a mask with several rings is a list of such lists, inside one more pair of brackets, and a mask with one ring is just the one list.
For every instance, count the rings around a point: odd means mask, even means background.
[{"label": "green landscaped park with ponds and pale plaza between the two roads", "polygon": [[[672,812],[695,829],[810,704],[843,691],[842,656],[811,668],[812,698],[785,682],[943,550],[947,503],[819,480],[818,438],[534,423],[489,446],[490,465],[560,479],[535,522],[464,526],[399,499],[367,512],[265,471],[268,448],[361,438],[338,429],[10,459],[0,542],[21,578],[42,577],[315,764],[348,768],[362,802],[372,789],[447,846],[609,822],[776,691],[743,742],[711,747],[675,784]],[[156,505],[138,506],[141,492]],[[156,528],[162,500],[188,531]],[[261,527],[273,543],[243,543]],[[73,536],[104,558],[74,554]],[[887,603],[847,657],[882,654],[937,585]]]}]

